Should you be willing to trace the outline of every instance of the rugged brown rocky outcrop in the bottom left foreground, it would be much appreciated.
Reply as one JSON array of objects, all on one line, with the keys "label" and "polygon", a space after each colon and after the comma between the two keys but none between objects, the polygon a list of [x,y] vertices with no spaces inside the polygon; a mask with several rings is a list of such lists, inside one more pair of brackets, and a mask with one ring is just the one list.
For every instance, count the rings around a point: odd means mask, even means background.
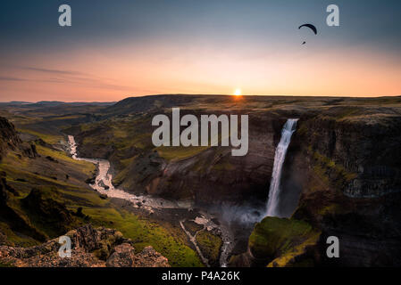
[{"label": "rugged brown rocky outcrop in the bottom left foreground", "polygon": [[87,224],[65,234],[71,257],[60,257],[59,238],[31,248],[0,246],[0,264],[17,267],[170,267],[151,246],[135,252],[132,240],[113,229]]}]

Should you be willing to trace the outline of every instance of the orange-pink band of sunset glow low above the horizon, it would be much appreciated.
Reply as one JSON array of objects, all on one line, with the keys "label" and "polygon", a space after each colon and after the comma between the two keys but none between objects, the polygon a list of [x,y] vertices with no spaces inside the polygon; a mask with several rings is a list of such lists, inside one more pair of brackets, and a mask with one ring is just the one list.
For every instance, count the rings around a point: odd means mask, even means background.
[{"label": "orange-pink band of sunset glow low above the horizon", "polygon": [[[347,55],[344,55],[347,54]],[[127,46],[41,53],[9,64],[1,101],[112,102],[147,94],[391,96],[401,90],[397,58],[349,48],[311,53],[250,50],[186,53]],[[62,68],[61,68],[62,67]],[[43,69],[43,70],[42,70]]]}]

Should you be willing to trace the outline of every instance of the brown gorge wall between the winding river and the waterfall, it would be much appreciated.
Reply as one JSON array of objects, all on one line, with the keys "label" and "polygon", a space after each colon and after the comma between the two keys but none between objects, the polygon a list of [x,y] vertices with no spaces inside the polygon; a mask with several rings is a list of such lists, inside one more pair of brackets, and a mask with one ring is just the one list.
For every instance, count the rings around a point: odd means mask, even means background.
[{"label": "brown gorge wall between the winding river and the waterfall", "polygon": [[[187,113],[191,111],[199,113],[198,110],[186,110]],[[237,112],[243,114],[246,110]],[[221,110],[215,112],[217,116],[221,113]],[[266,177],[272,176],[275,145],[280,140],[286,115],[263,112],[250,115],[249,151],[245,157],[233,157],[231,147],[199,148],[189,150],[188,154],[182,147],[155,148],[151,133],[138,134],[142,138],[139,142],[135,135],[130,142],[125,142],[131,136],[130,128],[136,129],[134,134],[138,129],[148,130],[151,118],[146,115],[139,122],[134,118],[129,128],[124,122],[119,129],[126,133],[124,142],[112,137],[110,128],[104,130],[103,124],[72,134],[77,138],[81,156],[111,161],[116,173],[113,183],[125,191],[165,199],[191,199],[197,205],[207,207],[221,203],[238,205],[245,201],[249,207],[263,208],[267,199],[266,189],[269,188]]]}]

